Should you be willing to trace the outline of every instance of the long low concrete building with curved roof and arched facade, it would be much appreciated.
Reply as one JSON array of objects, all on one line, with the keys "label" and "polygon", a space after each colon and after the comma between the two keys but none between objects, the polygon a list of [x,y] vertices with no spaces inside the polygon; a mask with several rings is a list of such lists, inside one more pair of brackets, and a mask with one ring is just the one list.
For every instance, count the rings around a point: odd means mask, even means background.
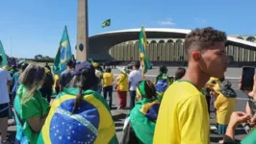
[{"label": "long low concrete building with curved roof and arched facade", "polygon": [[[122,30],[90,36],[90,58],[94,60],[139,60],[138,38],[141,29]],[[184,38],[191,30],[145,29],[146,52],[151,61],[185,61]],[[235,61],[256,61],[254,36],[228,36],[227,54]],[[255,38],[255,37],[254,37]],[[255,41],[256,42],[256,41]]]}]

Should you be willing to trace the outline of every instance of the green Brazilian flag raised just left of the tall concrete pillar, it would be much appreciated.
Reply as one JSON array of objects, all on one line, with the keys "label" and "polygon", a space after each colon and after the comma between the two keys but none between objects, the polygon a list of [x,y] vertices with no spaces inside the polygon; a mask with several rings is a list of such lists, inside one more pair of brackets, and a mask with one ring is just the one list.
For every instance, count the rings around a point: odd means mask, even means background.
[{"label": "green Brazilian flag raised just left of the tall concrete pillar", "polygon": [[66,60],[72,59],[71,46],[67,34],[66,26],[64,27],[64,34],[61,39],[56,57],[54,59],[53,71],[55,74],[60,75],[66,68]]}]

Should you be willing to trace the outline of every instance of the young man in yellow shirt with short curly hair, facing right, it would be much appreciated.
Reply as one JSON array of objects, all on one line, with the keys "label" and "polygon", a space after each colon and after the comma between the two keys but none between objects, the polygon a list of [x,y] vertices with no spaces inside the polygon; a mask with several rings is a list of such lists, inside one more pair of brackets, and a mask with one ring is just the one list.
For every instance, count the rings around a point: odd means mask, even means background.
[{"label": "young man in yellow shirt with short curly hair, facing right", "polygon": [[195,29],[185,39],[188,69],[171,84],[162,100],[154,144],[209,144],[210,122],[200,89],[210,77],[223,76],[226,34],[213,28]]}]

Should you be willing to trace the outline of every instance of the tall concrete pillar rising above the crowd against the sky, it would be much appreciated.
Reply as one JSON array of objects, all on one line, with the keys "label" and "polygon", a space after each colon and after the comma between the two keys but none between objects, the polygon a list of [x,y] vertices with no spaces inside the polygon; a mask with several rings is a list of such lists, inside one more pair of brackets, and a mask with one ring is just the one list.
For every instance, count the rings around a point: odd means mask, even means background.
[{"label": "tall concrete pillar rising above the crowd against the sky", "polygon": [[76,60],[89,60],[88,0],[78,0],[77,3]]}]

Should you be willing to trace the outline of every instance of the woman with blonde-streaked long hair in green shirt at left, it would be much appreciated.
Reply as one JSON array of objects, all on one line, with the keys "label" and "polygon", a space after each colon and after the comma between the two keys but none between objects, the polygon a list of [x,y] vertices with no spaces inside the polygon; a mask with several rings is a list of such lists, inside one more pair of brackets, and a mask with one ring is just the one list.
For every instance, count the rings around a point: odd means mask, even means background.
[{"label": "woman with blonde-streaked long hair in green shirt at left", "polygon": [[20,85],[14,100],[15,144],[36,144],[38,141],[38,133],[49,110],[49,103],[39,91],[45,77],[44,67],[30,64],[19,78]]}]

